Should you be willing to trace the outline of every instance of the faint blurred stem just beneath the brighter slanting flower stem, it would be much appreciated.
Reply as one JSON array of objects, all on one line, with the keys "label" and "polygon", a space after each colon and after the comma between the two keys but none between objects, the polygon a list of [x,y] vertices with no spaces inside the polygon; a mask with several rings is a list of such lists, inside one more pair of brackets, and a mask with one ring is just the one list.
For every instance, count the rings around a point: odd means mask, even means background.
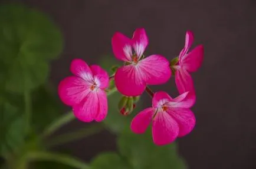
[{"label": "faint blurred stem just beneath the brighter slanting flower stem", "polygon": [[66,134],[62,134],[56,136],[52,139],[52,141],[47,141],[47,147],[54,147],[55,145],[65,144],[70,141],[76,141],[84,137],[88,137],[90,135],[96,134],[97,132],[103,131],[104,127],[101,124],[93,124],[88,126],[87,128],[82,128],[76,132],[68,132]]}]

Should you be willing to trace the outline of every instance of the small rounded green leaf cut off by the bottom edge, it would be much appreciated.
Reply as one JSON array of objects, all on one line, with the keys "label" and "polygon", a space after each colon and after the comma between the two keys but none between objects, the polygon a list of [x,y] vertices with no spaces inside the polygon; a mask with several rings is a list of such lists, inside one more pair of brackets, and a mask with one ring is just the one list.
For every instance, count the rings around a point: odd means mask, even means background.
[{"label": "small rounded green leaf cut off by the bottom edge", "polygon": [[91,162],[91,169],[129,169],[129,164],[113,152],[101,153]]}]

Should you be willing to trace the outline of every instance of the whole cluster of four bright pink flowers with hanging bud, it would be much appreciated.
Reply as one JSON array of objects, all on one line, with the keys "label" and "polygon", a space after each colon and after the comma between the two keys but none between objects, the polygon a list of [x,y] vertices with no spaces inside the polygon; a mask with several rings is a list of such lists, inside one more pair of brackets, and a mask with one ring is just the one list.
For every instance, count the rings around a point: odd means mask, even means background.
[{"label": "whole cluster of four bright pink flowers with hanging bud", "polygon": [[[152,107],[139,112],[132,120],[131,129],[142,134],[152,123],[153,142],[156,145],[172,143],[193,130],[195,116],[189,109],[195,103],[195,89],[190,72],[195,72],[202,64],[204,47],[199,45],[191,52],[193,34],[186,32],[185,47],[179,57],[168,61],[154,54],[146,57],[145,49],[149,43],[145,29],[138,28],[132,39],[120,32],[112,38],[114,56],[123,61],[116,69],[114,82],[117,90],[123,94],[120,112],[124,115],[133,110],[137,98],[146,90],[152,96]],[[73,107],[76,117],[84,122],[102,121],[107,115],[106,89],[112,77],[97,65],[88,67],[81,59],[71,62],[72,77],[60,82],[58,92],[61,100]],[[170,97],[166,92],[152,92],[148,85],[168,82],[175,74],[179,96]]]}]

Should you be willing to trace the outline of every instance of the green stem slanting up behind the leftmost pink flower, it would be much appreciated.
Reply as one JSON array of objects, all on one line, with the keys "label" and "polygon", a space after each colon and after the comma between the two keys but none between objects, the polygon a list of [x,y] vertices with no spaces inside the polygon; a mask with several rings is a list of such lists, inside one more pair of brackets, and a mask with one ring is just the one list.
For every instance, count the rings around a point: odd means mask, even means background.
[{"label": "green stem slanting up behind the leftmost pink flower", "polygon": [[[114,92],[116,92],[117,89],[113,88],[109,92],[107,92],[107,95],[111,95]],[[67,124],[70,121],[75,120],[76,117],[74,117],[74,114],[72,111],[67,112],[66,114],[62,115],[60,118],[58,118],[56,121],[52,122],[43,132],[42,136],[47,137],[48,135],[51,135],[53,132],[57,131],[59,128],[61,128],[63,125]]]}]

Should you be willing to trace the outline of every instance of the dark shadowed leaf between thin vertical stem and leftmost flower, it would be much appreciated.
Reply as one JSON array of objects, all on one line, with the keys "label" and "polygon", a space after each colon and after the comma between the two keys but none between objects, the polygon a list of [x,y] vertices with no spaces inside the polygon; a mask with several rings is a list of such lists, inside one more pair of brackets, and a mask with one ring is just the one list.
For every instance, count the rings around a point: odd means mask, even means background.
[{"label": "dark shadowed leaf between thin vertical stem and leftmost flower", "polygon": [[42,131],[63,112],[63,104],[52,88],[40,86],[32,92],[32,127]]}]

